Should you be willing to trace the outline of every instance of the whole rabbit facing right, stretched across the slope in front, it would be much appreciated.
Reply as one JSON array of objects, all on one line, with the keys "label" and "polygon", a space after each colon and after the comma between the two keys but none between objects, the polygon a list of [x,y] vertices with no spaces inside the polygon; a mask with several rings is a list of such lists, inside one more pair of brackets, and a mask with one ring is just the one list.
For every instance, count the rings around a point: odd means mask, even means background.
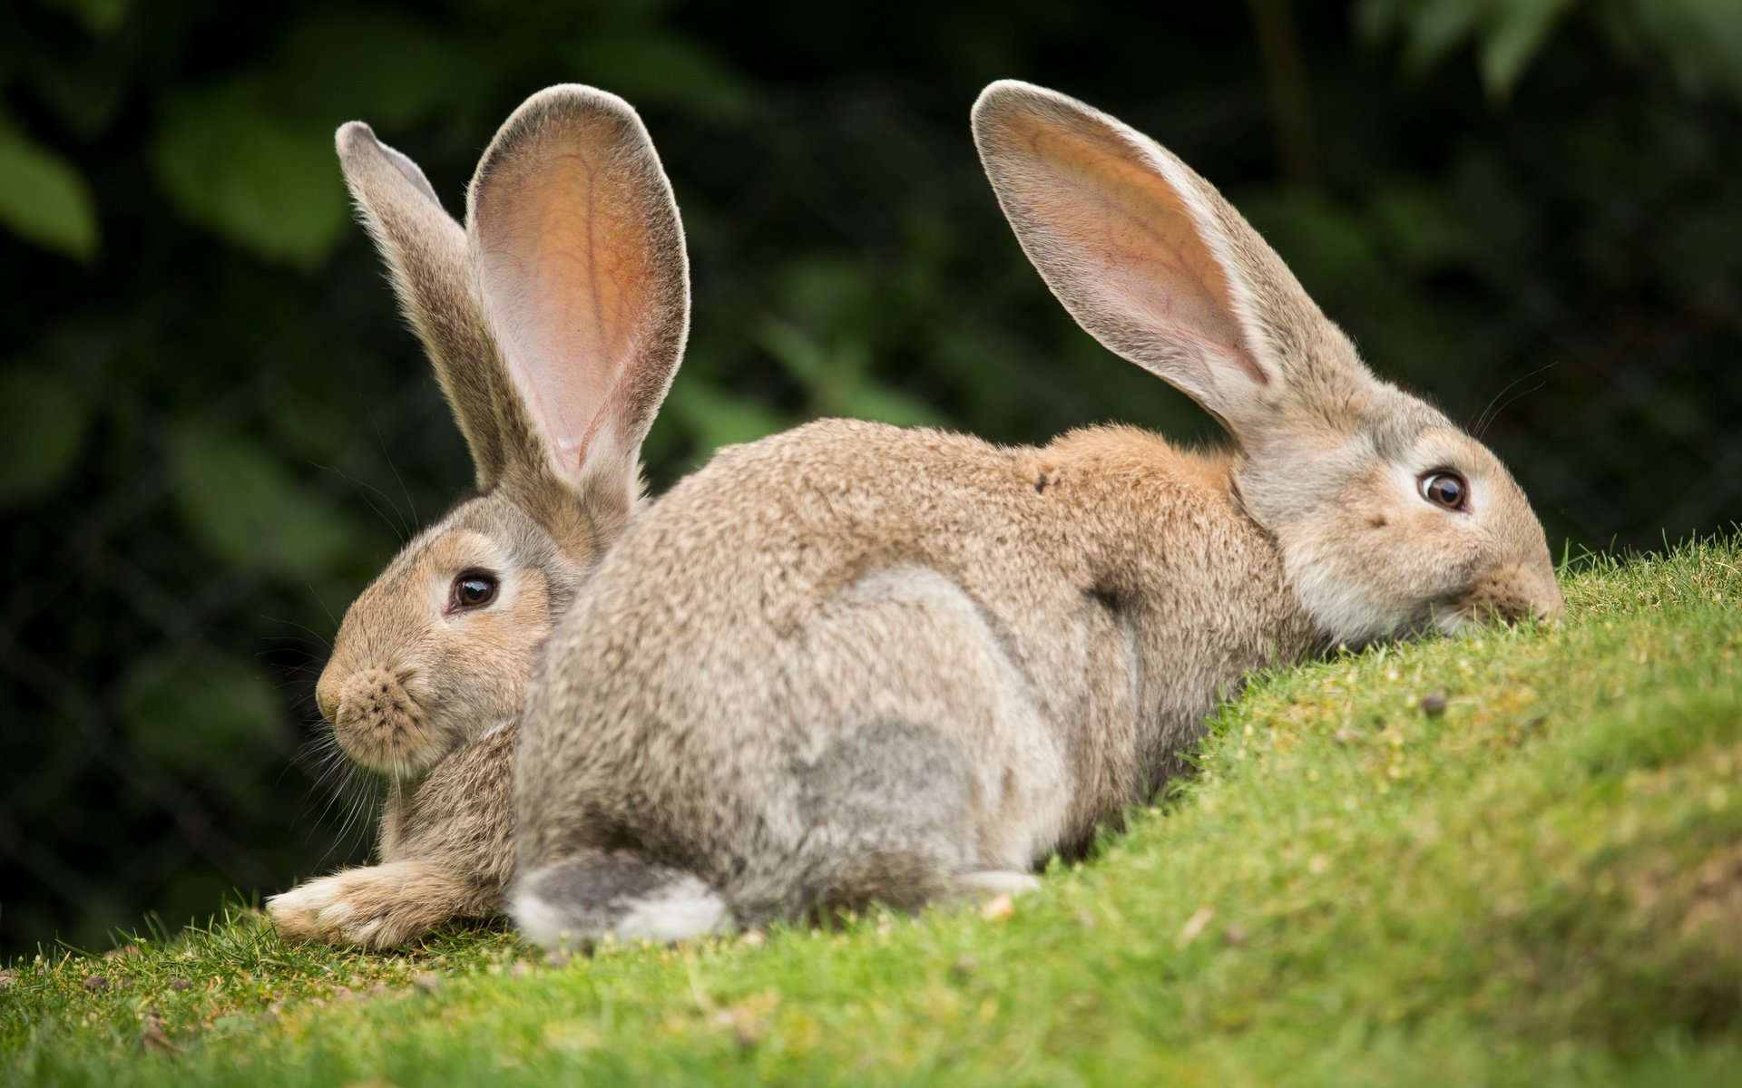
[{"label": "whole rabbit facing right, stretched across the slope in front", "polygon": [[531,942],[1024,891],[1252,670],[1563,609],[1500,461],[1374,378],[1207,181],[1028,84],[972,122],[1066,310],[1233,449],[836,420],[716,453],[606,554],[526,695]]}]

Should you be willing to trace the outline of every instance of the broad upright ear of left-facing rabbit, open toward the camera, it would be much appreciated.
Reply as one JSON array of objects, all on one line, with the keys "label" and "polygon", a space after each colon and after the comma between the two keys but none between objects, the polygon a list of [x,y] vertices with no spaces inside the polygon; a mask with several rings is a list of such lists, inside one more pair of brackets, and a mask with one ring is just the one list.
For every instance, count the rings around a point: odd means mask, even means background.
[{"label": "broad upright ear of left-facing rabbit, open toward the camera", "polygon": [[514,456],[596,515],[627,514],[690,320],[678,204],[641,118],[591,87],[540,91],[484,151],[469,205],[484,319],[531,425]]}]

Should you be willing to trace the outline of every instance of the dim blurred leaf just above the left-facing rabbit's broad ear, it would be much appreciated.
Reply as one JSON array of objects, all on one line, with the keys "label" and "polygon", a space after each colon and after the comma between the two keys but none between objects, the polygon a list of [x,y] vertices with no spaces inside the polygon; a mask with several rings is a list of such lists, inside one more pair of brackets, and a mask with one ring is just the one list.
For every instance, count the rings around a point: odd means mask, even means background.
[{"label": "dim blurred leaf just above the left-facing rabbit's broad ear", "polygon": [[685,106],[742,118],[754,91],[719,54],[671,31],[589,33],[570,54],[577,77],[638,106]]}]

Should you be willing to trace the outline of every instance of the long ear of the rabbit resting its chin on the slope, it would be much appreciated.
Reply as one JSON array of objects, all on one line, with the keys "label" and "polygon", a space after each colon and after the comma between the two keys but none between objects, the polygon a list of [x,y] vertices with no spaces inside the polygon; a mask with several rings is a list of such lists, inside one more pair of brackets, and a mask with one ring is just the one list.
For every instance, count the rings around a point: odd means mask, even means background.
[{"label": "long ear of the rabbit resting its chin on the slope", "polygon": [[1023,251],[1077,324],[1242,440],[1279,404],[1366,379],[1282,258],[1148,136],[1000,80],[974,103],[974,143]]}]

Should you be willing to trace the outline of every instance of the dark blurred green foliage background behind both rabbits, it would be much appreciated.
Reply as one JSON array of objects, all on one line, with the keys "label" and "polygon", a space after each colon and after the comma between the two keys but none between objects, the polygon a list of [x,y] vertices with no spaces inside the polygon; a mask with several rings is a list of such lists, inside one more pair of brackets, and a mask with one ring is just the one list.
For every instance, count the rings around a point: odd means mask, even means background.
[{"label": "dark blurred green foliage background behind both rabbits", "polygon": [[1742,5],[1198,7],[7,5],[0,947],[368,844],[286,768],[336,615],[470,472],[348,223],[350,118],[458,209],[531,91],[643,110],[695,277],[655,489],[817,414],[1214,437],[1010,238],[967,106],[1014,75],[1179,151],[1381,373],[1491,416],[1556,541],[1737,515]]}]

